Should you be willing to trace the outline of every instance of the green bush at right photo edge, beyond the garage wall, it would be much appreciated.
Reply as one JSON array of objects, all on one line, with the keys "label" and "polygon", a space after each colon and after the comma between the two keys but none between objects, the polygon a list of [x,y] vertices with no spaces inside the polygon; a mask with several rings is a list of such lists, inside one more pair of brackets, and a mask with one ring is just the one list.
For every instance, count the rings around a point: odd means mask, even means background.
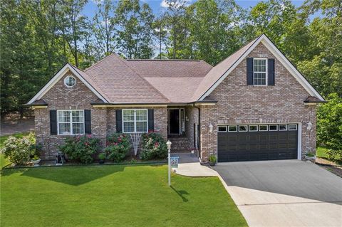
[{"label": "green bush at right photo edge, beyond the garage wall", "polygon": [[342,159],[342,98],[336,93],[318,107],[317,143],[328,148],[329,159]]}]

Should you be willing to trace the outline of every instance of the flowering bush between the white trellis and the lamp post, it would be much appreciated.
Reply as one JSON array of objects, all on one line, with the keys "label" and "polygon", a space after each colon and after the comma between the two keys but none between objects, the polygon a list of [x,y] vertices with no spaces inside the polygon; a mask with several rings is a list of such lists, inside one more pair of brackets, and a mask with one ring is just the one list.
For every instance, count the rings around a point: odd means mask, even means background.
[{"label": "flowering bush between the white trellis and the lamp post", "polygon": [[155,132],[142,134],[141,159],[165,159],[167,157],[167,145],[160,134]]}]

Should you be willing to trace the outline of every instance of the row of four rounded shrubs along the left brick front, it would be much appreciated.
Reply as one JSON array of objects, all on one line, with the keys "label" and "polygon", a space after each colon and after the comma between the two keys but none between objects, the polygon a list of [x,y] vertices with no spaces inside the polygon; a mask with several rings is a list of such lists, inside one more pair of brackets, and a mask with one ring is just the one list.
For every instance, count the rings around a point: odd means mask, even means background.
[{"label": "row of four rounded shrubs along the left brick front", "polygon": [[[142,134],[141,147],[140,157],[143,160],[164,159],[167,157],[167,146],[160,134],[154,132]],[[73,162],[91,163],[94,155],[99,152],[101,147],[100,139],[91,135],[83,135],[67,137],[64,144],[58,148]],[[131,148],[129,134],[110,134],[107,137],[104,152],[101,152],[98,158],[123,162]],[[28,137],[22,139],[9,137],[4,142],[4,149],[2,149],[5,157],[9,158],[10,162],[18,165],[27,164],[31,162],[33,157],[39,157],[39,151],[34,134],[29,134]]]}]

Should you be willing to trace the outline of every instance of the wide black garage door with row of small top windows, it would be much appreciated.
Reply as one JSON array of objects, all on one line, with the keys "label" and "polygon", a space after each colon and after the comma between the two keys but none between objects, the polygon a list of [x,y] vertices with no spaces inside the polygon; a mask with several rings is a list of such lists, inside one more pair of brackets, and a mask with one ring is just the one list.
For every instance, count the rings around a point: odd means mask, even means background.
[{"label": "wide black garage door with row of small top windows", "polygon": [[298,125],[219,125],[217,162],[297,159]]}]

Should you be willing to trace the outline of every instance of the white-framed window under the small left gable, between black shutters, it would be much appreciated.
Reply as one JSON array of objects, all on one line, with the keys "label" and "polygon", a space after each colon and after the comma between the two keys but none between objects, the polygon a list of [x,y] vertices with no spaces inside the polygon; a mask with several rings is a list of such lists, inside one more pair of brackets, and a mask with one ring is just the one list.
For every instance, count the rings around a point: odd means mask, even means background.
[{"label": "white-framed window under the small left gable, between black shutters", "polygon": [[58,134],[84,134],[84,110],[58,110]]}]

